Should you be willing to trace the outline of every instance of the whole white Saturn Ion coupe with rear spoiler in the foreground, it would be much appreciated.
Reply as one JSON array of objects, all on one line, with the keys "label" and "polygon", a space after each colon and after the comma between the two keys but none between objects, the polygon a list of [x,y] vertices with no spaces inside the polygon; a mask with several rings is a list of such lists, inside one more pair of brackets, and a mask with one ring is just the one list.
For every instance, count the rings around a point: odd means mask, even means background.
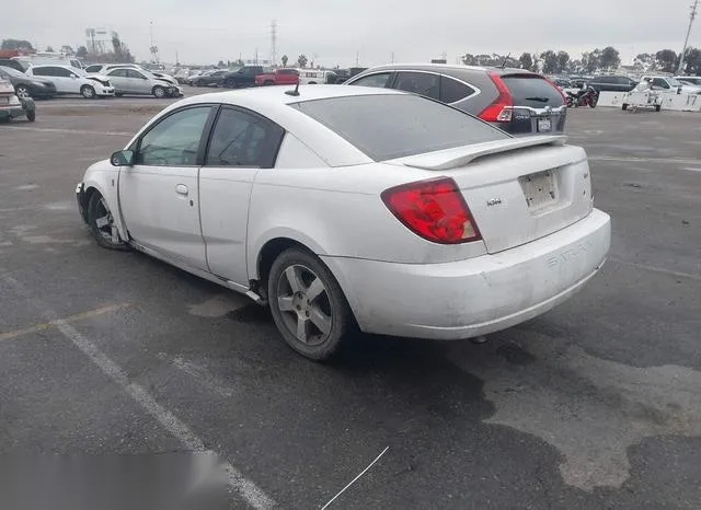
[{"label": "whole white Saturn Ion coupe with rear spoiler in the foreground", "polygon": [[78,185],[97,243],[269,305],[324,360],[363,332],[476,337],[567,300],[610,218],[585,151],[512,138],[403,92],[334,85],[197,95]]}]

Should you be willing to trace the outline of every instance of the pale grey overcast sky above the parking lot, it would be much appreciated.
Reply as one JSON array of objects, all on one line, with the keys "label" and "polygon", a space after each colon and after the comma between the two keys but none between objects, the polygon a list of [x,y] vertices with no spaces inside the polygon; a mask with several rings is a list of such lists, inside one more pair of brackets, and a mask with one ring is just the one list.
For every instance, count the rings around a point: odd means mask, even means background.
[{"label": "pale grey overcast sky above the parking lot", "polygon": [[[209,63],[300,54],[324,66],[426,61],[445,53],[564,49],[573,56],[608,45],[623,63],[636,54],[681,50],[691,0],[22,0],[2,7],[0,37],[44,49],[85,44],[87,27],[119,33],[137,59],[149,57],[153,21],[162,61]],[[616,9],[616,13],[612,11]],[[578,14],[575,14],[575,11]],[[701,22],[700,22],[701,23]],[[701,46],[701,26],[690,43]]]}]

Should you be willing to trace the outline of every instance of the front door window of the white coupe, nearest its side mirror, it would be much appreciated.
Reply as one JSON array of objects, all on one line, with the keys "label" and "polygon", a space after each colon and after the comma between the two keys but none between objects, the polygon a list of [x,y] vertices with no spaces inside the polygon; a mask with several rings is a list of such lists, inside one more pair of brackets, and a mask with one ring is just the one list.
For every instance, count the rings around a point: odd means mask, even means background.
[{"label": "front door window of the white coupe, nearest its side mirror", "polygon": [[169,115],[139,141],[136,164],[192,166],[197,164],[199,140],[210,106],[182,109]]}]

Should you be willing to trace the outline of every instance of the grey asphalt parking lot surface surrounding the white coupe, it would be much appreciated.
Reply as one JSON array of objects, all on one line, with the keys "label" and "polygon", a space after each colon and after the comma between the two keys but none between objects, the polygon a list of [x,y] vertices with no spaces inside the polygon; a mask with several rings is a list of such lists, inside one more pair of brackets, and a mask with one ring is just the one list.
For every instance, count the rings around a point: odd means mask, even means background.
[{"label": "grey asphalt parking lot surface surrounding the white coupe", "polygon": [[84,169],[168,103],[0,126],[0,453],[211,451],[234,508],[321,508],[388,448],[329,508],[700,507],[697,115],[570,112],[613,237],[566,304],[483,345],[364,336],[324,366],[82,225]]}]

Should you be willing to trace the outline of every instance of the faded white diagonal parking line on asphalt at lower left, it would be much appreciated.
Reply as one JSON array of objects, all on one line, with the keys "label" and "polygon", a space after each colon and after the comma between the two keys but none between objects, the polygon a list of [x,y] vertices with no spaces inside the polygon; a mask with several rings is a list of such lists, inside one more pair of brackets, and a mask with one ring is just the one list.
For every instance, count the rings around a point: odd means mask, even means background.
[{"label": "faded white diagonal parking line on asphalt at lower left", "polygon": [[[34,299],[22,283],[12,277],[4,277],[3,281],[13,287],[15,291],[37,309],[42,310],[43,320],[51,322],[58,331],[83,352],[105,375],[118,384],[137,404],[150,414],[161,426],[175,437],[186,449],[197,453],[216,452],[208,450],[204,441],[181,421],[173,413],[156,402],[156,398],[139,384],[129,381],[124,369],[101,351],[95,344],[80,334],[66,320],[58,318],[58,314],[43,302]],[[219,456],[219,455],[217,455]],[[223,464],[228,475],[229,488],[238,492],[251,507],[255,509],[271,509],[275,501],[261,490],[253,482],[233,467],[230,463]]]}]

